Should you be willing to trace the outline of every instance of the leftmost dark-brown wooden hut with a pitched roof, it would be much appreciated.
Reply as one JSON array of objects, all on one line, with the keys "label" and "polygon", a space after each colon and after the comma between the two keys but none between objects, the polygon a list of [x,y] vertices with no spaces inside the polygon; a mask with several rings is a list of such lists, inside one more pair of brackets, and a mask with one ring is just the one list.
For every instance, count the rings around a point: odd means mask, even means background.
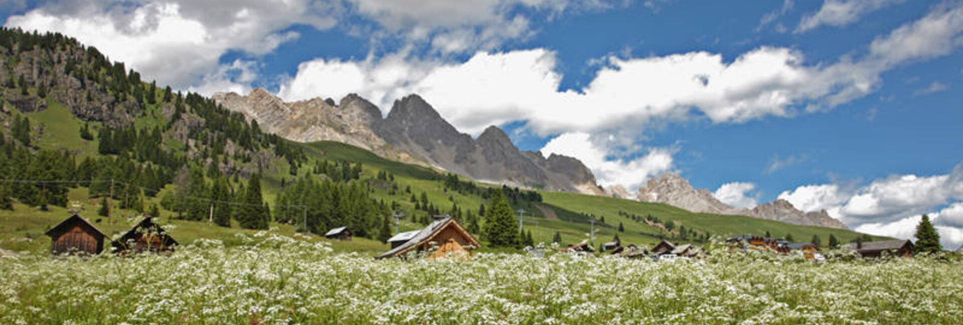
[{"label": "leftmost dark-brown wooden hut with a pitched roof", "polygon": [[46,233],[50,237],[50,252],[59,254],[100,254],[104,250],[103,232],[80,214],[73,214]]}]

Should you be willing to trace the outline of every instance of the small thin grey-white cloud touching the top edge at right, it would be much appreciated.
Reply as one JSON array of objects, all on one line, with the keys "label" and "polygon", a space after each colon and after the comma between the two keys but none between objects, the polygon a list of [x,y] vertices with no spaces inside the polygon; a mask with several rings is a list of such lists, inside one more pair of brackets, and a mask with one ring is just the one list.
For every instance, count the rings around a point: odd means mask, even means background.
[{"label": "small thin grey-white cloud touching the top edge at right", "polygon": [[867,13],[901,2],[903,0],[826,0],[819,12],[802,17],[795,33],[805,33],[822,25],[846,26]]}]

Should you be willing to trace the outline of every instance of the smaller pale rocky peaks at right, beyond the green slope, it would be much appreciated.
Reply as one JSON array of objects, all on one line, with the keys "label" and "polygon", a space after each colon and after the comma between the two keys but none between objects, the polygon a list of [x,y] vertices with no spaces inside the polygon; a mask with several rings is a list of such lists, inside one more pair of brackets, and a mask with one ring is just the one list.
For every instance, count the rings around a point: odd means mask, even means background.
[{"label": "smaller pale rocky peaks at right, beyond the green slope", "polygon": [[692,188],[689,181],[672,173],[650,179],[644,187],[638,188],[637,198],[639,201],[664,203],[694,213],[748,215],[796,225],[846,228],[842,221],[829,216],[825,211],[804,213],[782,199],[761,204],[751,210],[733,208],[717,200],[708,189]]}]

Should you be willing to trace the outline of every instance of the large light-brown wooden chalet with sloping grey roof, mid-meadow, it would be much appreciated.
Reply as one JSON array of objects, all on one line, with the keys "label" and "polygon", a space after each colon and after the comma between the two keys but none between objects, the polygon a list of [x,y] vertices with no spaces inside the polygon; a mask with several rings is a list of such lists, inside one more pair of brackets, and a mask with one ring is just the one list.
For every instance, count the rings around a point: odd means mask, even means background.
[{"label": "large light-brown wooden chalet with sloping grey roof, mid-meadow", "polygon": [[377,259],[403,257],[408,252],[427,251],[435,246],[445,255],[456,255],[462,252],[467,256],[468,250],[481,247],[481,243],[472,237],[464,227],[461,227],[452,216],[433,216],[435,219],[428,227],[420,231],[398,234],[389,238],[391,250],[381,254]]}]

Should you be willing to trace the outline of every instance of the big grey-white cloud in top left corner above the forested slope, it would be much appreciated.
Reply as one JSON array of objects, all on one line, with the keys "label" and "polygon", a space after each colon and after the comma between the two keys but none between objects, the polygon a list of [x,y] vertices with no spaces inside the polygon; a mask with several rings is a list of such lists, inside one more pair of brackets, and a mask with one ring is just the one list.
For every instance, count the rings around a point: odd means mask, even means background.
[{"label": "big grey-white cloud in top left corner above the forested slope", "polygon": [[11,16],[6,25],[64,33],[145,77],[187,88],[217,78],[208,74],[219,72],[224,53],[270,53],[299,37],[283,29],[292,24],[328,29],[335,11],[307,0],[64,1]]}]

